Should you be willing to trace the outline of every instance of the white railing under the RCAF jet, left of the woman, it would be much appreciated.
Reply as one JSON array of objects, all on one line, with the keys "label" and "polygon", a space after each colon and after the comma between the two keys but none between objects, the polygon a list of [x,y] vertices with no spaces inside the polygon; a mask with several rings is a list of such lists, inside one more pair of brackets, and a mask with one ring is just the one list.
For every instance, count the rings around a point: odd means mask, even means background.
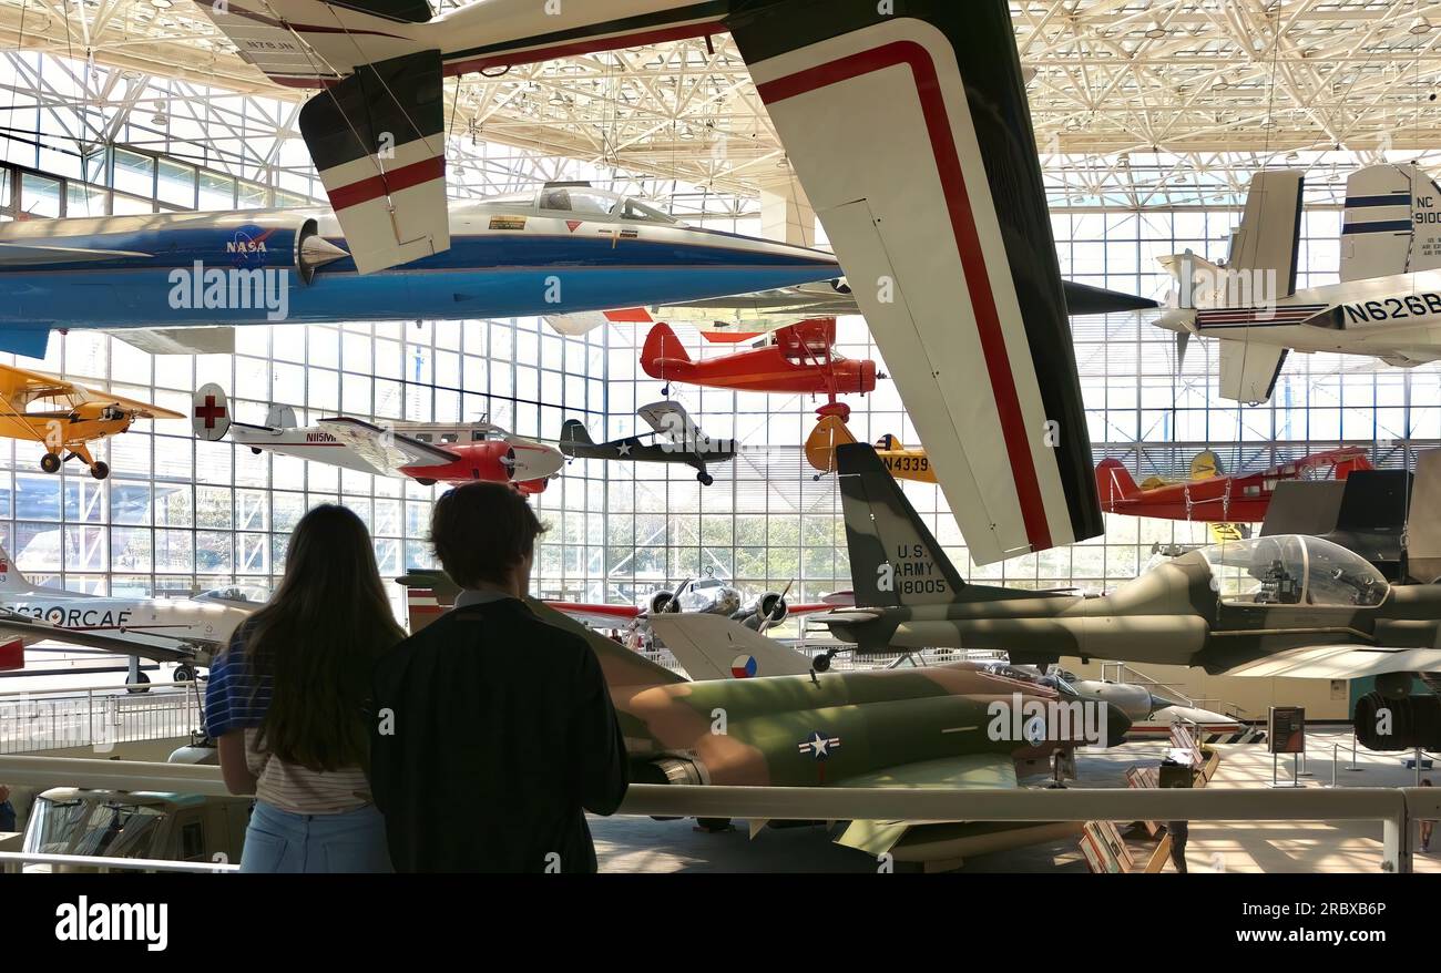
[{"label": "white railing under the RCAF jet, left of the woman", "polygon": [[[128,692],[144,688],[146,692]],[[81,686],[0,692],[0,754],[187,737],[200,727],[193,683]]]}]

